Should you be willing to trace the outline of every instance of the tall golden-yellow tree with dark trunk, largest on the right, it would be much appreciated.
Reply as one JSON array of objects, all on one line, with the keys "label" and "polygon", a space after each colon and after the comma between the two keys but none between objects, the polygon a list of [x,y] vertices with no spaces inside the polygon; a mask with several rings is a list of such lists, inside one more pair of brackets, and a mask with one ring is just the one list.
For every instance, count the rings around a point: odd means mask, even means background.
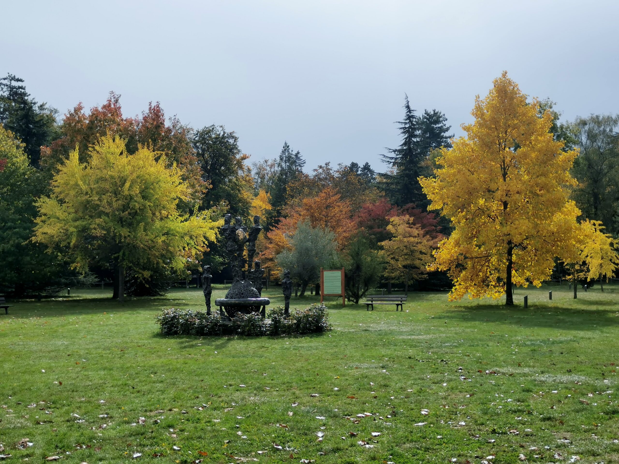
[{"label": "tall golden-yellow tree with dark trunk, largest on the right", "polygon": [[429,209],[454,226],[430,267],[454,280],[451,300],[506,294],[512,305],[514,284],[540,286],[553,259],[569,260],[576,249],[580,211],[569,200],[569,170],[577,152],[563,150],[549,132],[550,111],[539,117],[538,101],[526,97],[503,72],[475,99],[466,136],[441,149],[435,177],[420,178]]}]

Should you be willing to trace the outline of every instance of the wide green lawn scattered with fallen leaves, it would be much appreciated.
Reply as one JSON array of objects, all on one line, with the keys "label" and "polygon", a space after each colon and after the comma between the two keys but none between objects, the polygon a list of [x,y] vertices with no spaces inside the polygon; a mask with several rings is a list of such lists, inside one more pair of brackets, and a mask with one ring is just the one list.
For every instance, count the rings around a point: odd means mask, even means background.
[{"label": "wide green lawn scattered with fallen leaves", "polygon": [[619,286],[524,294],[529,309],[331,303],[331,332],[289,338],[158,335],[161,309],[203,307],[196,289],[17,302],[0,316],[0,444],[7,462],[618,462]]}]

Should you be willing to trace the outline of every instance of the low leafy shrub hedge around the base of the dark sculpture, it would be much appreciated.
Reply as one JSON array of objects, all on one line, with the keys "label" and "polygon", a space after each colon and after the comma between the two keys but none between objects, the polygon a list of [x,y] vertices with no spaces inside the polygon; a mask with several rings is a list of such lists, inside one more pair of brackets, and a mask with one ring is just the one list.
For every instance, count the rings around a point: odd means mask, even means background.
[{"label": "low leafy shrub hedge around the base of the dark sculpture", "polygon": [[284,316],[284,307],[269,311],[271,320],[264,320],[258,313],[239,314],[232,324],[224,324],[219,315],[207,316],[206,311],[166,309],[157,316],[163,335],[292,335],[330,330],[329,314],[324,304],[312,304]]}]

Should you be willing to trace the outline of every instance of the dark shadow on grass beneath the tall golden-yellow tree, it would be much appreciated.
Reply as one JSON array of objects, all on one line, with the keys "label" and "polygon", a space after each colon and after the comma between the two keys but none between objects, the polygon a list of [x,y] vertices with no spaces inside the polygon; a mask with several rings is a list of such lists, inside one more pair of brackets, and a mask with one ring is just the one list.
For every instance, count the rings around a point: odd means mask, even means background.
[{"label": "dark shadow on grass beneath the tall golden-yellow tree", "polygon": [[[612,301],[579,301],[581,307],[561,307],[536,303],[534,307],[507,307],[496,304],[453,306],[436,315],[448,322],[497,322],[516,327],[564,330],[598,330],[619,326],[618,306]],[[585,306],[583,309],[582,306]],[[604,306],[607,309],[602,309]],[[595,307],[595,309],[589,309]]]}]

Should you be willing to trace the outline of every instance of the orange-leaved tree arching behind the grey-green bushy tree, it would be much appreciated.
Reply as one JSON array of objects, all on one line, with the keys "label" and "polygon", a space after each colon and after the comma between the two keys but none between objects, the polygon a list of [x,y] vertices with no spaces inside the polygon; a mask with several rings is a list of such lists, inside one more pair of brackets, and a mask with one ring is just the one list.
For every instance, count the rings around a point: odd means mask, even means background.
[{"label": "orange-leaved tree arching behind the grey-green bushy tree", "polygon": [[325,187],[316,197],[288,205],[284,213],[286,217],[267,233],[266,247],[261,253],[264,266],[275,272],[275,257],[285,249],[290,249],[290,238],[300,222],[308,221],[313,228],[329,228],[335,234],[338,251],[344,249],[356,230],[350,207],[331,186]]}]

